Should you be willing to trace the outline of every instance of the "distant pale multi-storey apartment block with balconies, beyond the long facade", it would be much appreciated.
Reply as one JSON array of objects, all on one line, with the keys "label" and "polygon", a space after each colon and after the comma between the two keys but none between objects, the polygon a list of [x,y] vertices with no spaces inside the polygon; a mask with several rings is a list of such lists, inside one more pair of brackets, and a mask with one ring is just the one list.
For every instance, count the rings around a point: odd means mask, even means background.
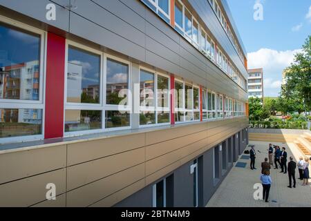
[{"label": "distant pale multi-storey apartment block with balconies, beyond the long facade", "polygon": [[248,97],[258,97],[263,100],[263,68],[249,69]]}]

